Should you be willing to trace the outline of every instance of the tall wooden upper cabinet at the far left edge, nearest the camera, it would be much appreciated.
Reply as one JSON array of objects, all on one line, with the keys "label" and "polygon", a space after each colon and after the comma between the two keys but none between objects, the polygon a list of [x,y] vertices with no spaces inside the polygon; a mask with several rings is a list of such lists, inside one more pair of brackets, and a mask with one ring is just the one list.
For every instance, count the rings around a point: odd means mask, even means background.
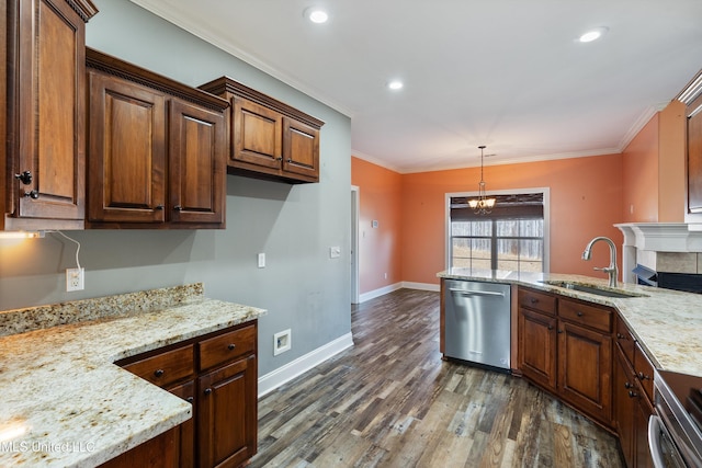
[{"label": "tall wooden upper cabinet at the far left edge, nearest the camera", "polygon": [[[2,229],[82,229],[90,0],[3,2]],[[5,112],[7,111],[7,112]]]}]

